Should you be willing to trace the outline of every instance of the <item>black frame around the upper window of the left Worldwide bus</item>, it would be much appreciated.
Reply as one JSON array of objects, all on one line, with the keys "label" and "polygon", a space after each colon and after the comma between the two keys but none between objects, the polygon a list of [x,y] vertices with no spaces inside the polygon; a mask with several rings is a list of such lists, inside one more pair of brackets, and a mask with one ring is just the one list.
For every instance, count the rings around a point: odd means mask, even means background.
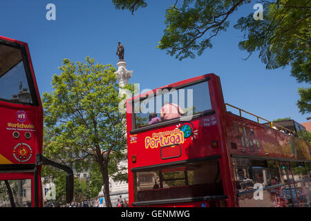
[{"label": "black frame around the upper window of the left Worldwide bus", "polygon": [[[17,44],[15,42],[6,41],[6,40],[3,40],[3,39],[0,39],[0,45],[16,48],[16,49],[20,50],[20,52],[21,52],[21,59],[23,61],[23,68],[25,70],[26,79],[28,81],[28,87],[29,87],[29,91],[30,91],[30,95],[31,95],[31,99],[32,99],[32,104],[18,102],[18,101],[12,101],[12,100],[8,100],[8,99],[3,99],[1,97],[0,97],[0,101],[1,102],[8,102],[8,103],[11,103],[11,104],[23,104],[23,105],[27,105],[27,106],[39,106],[38,96],[37,96],[37,93],[36,93],[36,90],[35,90],[35,83],[33,81],[32,71],[30,69],[30,59],[28,59],[28,53],[27,53],[27,50],[26,50],[26,46],[24,46],[23,44]],[[10,70],[12,70],[12,68]],[[3,74],[2,76],[6,75],[7,73],[8,72]],[[1,77],[0,77],[0,79],[1,79]]]}]

